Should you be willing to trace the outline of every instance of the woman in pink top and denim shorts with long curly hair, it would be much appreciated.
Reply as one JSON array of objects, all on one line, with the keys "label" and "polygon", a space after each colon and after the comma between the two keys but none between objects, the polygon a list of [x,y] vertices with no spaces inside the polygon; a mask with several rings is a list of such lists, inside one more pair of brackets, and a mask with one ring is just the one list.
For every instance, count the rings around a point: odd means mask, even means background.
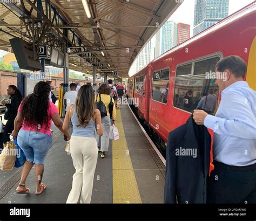
[{"label": "woman in pink top and denim shorts with long curly hair", "polygon": [[[62,129],[57,107],[49,101],[50,85],[44,81],[36,84],[32,94],[28,95],[19,105],[18,115],[14,121],[12,136],[18,137],[18,145],[24,151],[26,162],[23,165],[21,182],[17,187],[19,194],[29,194],[26,178],[35,164],[36,195],[42,193],[46,186],[42,183],[44,161],[52,144],[51,123],[64,133],[68,140],[70,135]],[[22,125],[23,122],[23,125]],[[21,130],[19,128],[21,127]]]}]

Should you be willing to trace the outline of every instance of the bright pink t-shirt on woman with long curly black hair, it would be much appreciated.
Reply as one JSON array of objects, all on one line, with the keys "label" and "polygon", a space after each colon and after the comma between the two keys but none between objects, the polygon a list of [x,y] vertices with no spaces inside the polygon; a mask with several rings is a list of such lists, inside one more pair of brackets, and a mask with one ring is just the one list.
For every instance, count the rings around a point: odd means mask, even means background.
[{"label": "bright pink t-shirt on woman with long curly black hair", "polygon": [[[21,112],[21,107],[22,107],[22,103],[21,103],[21,105],[19,105],[18,112]],[[51,135],[51,130],[50,130],[51,122],[52,122],[51,114],[58,114],[58,113],[59,113],[59,111],[58,111],[57,107],[55,106],[55,104],[49,101],[48,117],[49,117],[50,120],[48,122],[48,127],[46,127],[46,125],[44,123],[43,126],[41,127],[41,129],[37,129],[37,126],[36,127],[24,126],[24,123],[23,123],[23,126],[22,126],[21,129],[22,130],[29,130],[29,131],[37,131],[37,132],[41,132],[41,133],[44,133],[44,134],[47,134],[47,135]]]}]

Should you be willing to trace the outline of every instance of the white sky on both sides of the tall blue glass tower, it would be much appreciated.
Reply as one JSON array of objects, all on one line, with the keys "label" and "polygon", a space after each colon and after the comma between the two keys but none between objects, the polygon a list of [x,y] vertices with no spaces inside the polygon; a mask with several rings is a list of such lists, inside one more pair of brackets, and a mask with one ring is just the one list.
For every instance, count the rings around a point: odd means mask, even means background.
[{"label": "white sky on both sides of the tall blue glass tower", "polygon": [[[193,35],[194,25],[194,2],[195,0],[184,0],[169,18],[169,20],[172,20],[175,23],[189,24],[191,37]],[[252,2],[254,2],[254,0],[230,0],[228,15],[231,15]]]}]

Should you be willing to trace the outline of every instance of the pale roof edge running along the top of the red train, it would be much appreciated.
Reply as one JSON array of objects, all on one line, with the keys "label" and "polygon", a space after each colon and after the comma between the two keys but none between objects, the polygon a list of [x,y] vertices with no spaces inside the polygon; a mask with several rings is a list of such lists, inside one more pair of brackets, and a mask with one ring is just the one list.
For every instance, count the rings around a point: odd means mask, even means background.
[{"label": "pale roof edge running along the top of the red train", "polygon": [[173,47],[169,51],[166,51],[165,53],[161,54],[158,58],[152,60],[151,62],[153,63],[154,61],[157,61],[157,60],[173,53],[174,51],[177,51],[177,50],[181,49],[182,47],[185,47],[186,45],[191,44],[191,43],[195,42],[196,40],[205,37],[207,34],[212,33],[214,31],[220,29],[221,27],[226,26],[226,25],[234,22],[234,20],[237,20],[237,19],[239,19],[239,18],[241,18],[241,17],[243,17],[243,16],[247,15],[248,13],[251,13],[252,11],[255,11],[255,10],[256,10],[256,2],[252,2],[251,4],[246,5],[244,8],[240,9],[239,11],[234,12],[230,16],[220,20],[218,23],[216,23],[216,24],[208,27],[204,31],[196,34],[192,38],[187,39],[185,42]]}]

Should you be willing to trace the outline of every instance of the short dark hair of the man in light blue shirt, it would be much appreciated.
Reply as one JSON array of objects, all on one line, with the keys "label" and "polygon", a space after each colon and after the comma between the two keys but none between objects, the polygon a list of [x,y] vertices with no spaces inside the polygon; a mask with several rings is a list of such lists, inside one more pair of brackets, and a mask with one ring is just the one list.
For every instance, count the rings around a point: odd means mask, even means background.
[{"label": "short dark hair of the man in light blue shirt", "polygon": [[225,57],[215,65],[215,68],[219,72],[230,70],[235,75],[235,78],[244,78],[247,70],[245,61],[239,56]]}]

